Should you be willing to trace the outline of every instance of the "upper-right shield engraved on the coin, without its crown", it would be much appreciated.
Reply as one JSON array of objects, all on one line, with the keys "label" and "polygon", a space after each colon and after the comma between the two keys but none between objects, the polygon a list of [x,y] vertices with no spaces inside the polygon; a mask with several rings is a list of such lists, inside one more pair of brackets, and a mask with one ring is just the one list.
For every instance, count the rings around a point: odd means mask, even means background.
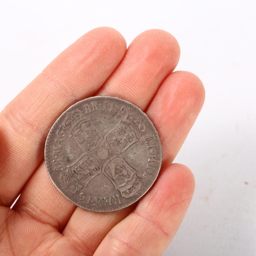
[{"label": "upper-right shield engraved on the coin, without its crown", "polygon": [[116,154],[121,154],[132,144],[138,141],[134,130],[124,121],[120,121],[117,126],[106,135],[110,147]]}]

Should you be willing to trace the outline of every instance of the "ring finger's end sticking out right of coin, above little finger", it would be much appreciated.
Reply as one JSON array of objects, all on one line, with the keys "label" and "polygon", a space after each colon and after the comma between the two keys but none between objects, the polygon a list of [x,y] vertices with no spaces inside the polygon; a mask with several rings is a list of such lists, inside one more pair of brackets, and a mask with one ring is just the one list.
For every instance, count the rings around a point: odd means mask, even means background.
[{"label": "ring finger's end sticking out right of coin, above little finger", "polygon": [[160,135],[165,164],[171,163],[179,152],[204,98],[202,81],[190,72],[173,72],[161,84],[146,113]]}]

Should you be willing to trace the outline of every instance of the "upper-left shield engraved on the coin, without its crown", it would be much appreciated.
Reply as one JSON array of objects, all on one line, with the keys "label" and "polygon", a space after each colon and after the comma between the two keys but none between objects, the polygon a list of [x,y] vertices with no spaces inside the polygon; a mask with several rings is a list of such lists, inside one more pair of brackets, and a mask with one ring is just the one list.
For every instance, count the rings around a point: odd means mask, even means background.
[{"label": "upper-left shield engraved on the coin, without its crown", "polygon": [[90,118],[79,119],[75,122],[72,126],[71,137],[87,152],[94,150],[103,140],[103,135],[92,124]]}]

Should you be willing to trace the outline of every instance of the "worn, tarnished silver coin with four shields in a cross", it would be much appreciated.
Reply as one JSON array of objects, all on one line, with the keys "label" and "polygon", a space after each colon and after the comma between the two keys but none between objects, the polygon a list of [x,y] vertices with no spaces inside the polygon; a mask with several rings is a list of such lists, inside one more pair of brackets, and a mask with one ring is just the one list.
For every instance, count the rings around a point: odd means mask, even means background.
[{"label": "worn, tarnished silver coin with four shields in a cross", "polygon": [[77,102],[52,126],[45,161],[59,191],[98,212],[123,209],[155,182],[162,146],[150,119],[134,104],[109,96]]}]

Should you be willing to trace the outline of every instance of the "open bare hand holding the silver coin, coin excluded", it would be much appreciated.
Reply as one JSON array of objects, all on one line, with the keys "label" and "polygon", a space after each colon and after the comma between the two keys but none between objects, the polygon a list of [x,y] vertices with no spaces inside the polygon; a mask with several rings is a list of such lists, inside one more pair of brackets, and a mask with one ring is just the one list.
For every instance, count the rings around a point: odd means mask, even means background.
[{"label": "open bare hand holding the silver coin, coin excluded", "polygon": [[[114,29],[94,29],[42,71],[0,115],[0,251],[4,255],[161,255],[194,192],[194,177],[172,164],[204,101],[201,81],[173,72],[176,39],[149,30],[126,50]],[[50,127],[75,102],[117,96],[141,108],[163,147],[160,175],[135,205],[106,214],[76,207],[44,163]],[[20,195],[13,209],[10,206]]]}]

